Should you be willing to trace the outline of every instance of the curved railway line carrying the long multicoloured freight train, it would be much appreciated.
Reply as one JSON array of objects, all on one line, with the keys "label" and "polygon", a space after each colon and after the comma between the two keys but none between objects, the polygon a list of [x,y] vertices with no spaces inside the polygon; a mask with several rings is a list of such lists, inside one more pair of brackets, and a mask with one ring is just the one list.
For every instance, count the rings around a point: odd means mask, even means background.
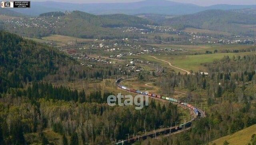
[{"label": "curved railway line carrying the long multicoloured freight train", "polygon": [[[159,70],[157,73],[160,73],[161,71]],[[119,78],[116,80],[116,85],[118,86],[118,88],[120,89],[123,89],[125,91],[130,91],[130,92],[133,92],[133,93],[137,93],[137,94],[140,94],[140,95],[149,95],[149,97],[153,98],[153,99],[158,99],[158,100],[161,100],[161,101],[169,101],[169,102],[172,102],[172,103],[176,103],[178,105],[181,105],[182,107],[187,107],[188,109],[190,109],[190,111],[192,111],[194,113],[194,118],[192,118],[190,121],[188,122],[185,122],[183,124],[180,124],[180,125],[175,125],[174,127],[168,127],[168,128],[162,128],[162,129],[158,129],[156,131],[151,131],[149,133],[146,133],[145,135],[141,135],[141,136],[133,136],[132,138],[129,138],[129,139],[125,139],[125,140],[122,140],[122,141],[118,141],[118,142],[115,142],[114,144],[116,145],[128,145],[128,144],[132,144],[134,142],[136,142],[137,140],[140,141],[140,139],[146,139],[147,137],[156,137],[158,135],[161,135],[161,134],[172,134],[172,133],[177,133],[178,131],[181,131],[182,129],[188,129],[188,127],[190,127],[192,121],[200,118],[200,117],[205,117],[205,113],[204,111],[202,111],[201,109],[199,109],[198,107],[195,107],[193,105],[190,105],[188,103],[183,103],[182,101],[178,101],[176,99],[172,99],[172,98],[169,98],[169,97],[161,97],[160,95],[155,95],[153,96],[153,94],[151,93],[145,93],[145,92],[142,92],[142,91],[138,91],[138,90],[134,90],[134,89],[129,89],[125,86],[122,86],[120,85],[120,82],[123,80],[123,78]],[[181,92],[178,92],[178,93],[181,93]]]}]

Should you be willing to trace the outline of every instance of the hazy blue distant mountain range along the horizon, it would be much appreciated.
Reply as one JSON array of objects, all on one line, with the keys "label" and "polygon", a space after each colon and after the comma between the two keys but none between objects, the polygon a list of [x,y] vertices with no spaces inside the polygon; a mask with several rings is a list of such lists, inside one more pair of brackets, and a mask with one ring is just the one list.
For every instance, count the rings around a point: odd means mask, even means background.
[{"label": "hazy blue distant mountain range along the horizon", "polygon": [[213,6],[197,6],[167,0],[144,0],[129,3],[95,3],[95,4],[73,4],[64,2],[32,2],[30,9],[13,9],[27,15],[38,16],[39,14],[53,11],[79,10],[92,14],[192,14],[203,10],[220,9],[242,9],[256,8],[256,5],[227,5],[218,4]]}]

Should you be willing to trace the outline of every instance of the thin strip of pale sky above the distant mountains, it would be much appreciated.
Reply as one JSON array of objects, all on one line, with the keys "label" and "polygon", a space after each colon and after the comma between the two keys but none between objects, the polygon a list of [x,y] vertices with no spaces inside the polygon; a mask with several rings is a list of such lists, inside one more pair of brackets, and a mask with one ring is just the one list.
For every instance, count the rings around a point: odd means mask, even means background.
[{"label": "thin strip of pale sky above the distant mountains", "polygon": [[[138,2],[142,0],[31,0],[33,1],[55,1],[69,3],[100,3],[100,2]],[[182,2],[196,4],[199,6],[210,6],[214,4],[239,4],[239,5],[256,5],[256,0],[171,0],[173,2]]]}]

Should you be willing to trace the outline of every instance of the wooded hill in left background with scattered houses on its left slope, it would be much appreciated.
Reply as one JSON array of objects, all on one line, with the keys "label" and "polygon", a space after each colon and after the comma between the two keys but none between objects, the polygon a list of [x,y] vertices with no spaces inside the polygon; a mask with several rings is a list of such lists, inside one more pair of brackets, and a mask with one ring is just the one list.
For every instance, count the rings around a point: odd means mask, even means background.
[{"label": "wooded hill in left background with scattered houses on its left slope", "polygon": [[[16,21],[15,23],[8,21],[4,25],[5,30],[30,38],[41,38],[51,34],[97,39],[143,38],[140,34],[122,32],[114,29],[114,27],[144,28],[143,24],[152,24],[146,19],[124,14],[98,16],[73,11],[65,14],[62,12],[50,12],[40,16],[18,19],[20,21],[19,25],[17,25]],[[35,25],[34,22],[38,22],[38,24]]]}]

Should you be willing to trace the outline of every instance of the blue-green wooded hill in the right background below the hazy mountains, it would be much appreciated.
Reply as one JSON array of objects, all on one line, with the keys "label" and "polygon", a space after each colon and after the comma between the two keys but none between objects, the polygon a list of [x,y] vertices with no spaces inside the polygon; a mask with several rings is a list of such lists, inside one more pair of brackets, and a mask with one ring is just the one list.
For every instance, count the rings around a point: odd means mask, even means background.
[{"label": "blue-green wooded hill in the right background below the hazy mountains", "polygon": [[[253,11],[253,10],[252,10]],[[196,14],[178,16],[163,21],[163,25],[178,29],[187,27],[229,32],[236,35],[255,36],[256,15],[244,10],[206,10]]]}]

